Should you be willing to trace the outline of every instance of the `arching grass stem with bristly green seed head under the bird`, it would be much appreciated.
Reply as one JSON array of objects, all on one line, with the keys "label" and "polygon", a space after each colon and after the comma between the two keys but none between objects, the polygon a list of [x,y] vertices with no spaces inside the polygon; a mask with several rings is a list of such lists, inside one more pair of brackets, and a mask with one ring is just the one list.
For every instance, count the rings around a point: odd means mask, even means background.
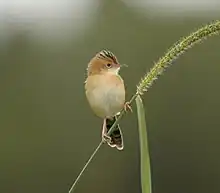
[{"label": "arching grass stem with bristly green seed head under the bird", "polygon": [[[192,48],[195,44],[201,42],[202,40],[206,39],[209,36],[216,35],[220,31],[220,21],[214,21],[208,25],[205,25],[198,29],[197,31],[191,33],[189,36],[182,38],[176,44],[174,44],[167,53],[159,59],[157,63],[154,64],[153,68],[147,73],[140,81],[137,86],[137,92],[133,95],[129,103],[132,103],[138,95],[142,95],[144,91],[147,91],[153,84],[153,82],[161,75],[164,70],[169,67],[172,62],[177,59],[181,54],[185,53],[189,48]],[[125,110],[123,109],[120,112],[120,115],[116,122],[112,125],[111,129],[108,131],[108,134],[111,134],[114,131],[115,126],[118,124],[122,116],[124,115]],[[74,187],[76,186],[77,182],[79,181],[80,177],[88,167],[89,163],[94,158],[95,154],[98,152],[102,145],[102,141],[99,143],[95,151],[90,156],[89,160],[86,162],[85,166],[79,173],[78,177],[76,178],[75,182],[71,186],[69,193],[72,193]]]}]

